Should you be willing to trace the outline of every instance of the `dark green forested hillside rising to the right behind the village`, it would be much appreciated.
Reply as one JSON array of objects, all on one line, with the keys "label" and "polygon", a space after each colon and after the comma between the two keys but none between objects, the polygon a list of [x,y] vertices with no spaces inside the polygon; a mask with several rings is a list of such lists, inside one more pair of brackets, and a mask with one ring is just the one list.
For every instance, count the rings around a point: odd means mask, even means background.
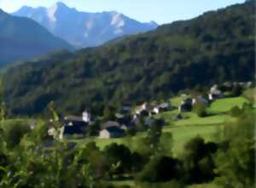
[{"label": "dark green forested hillside rising to the right behind the village", "polygon": [[253,80],[254,23],[255,4],[247,1],[99,48],[24,62],[3,74],[9,114],[37,114],[51,100],[58,111],[77,113]]}]

